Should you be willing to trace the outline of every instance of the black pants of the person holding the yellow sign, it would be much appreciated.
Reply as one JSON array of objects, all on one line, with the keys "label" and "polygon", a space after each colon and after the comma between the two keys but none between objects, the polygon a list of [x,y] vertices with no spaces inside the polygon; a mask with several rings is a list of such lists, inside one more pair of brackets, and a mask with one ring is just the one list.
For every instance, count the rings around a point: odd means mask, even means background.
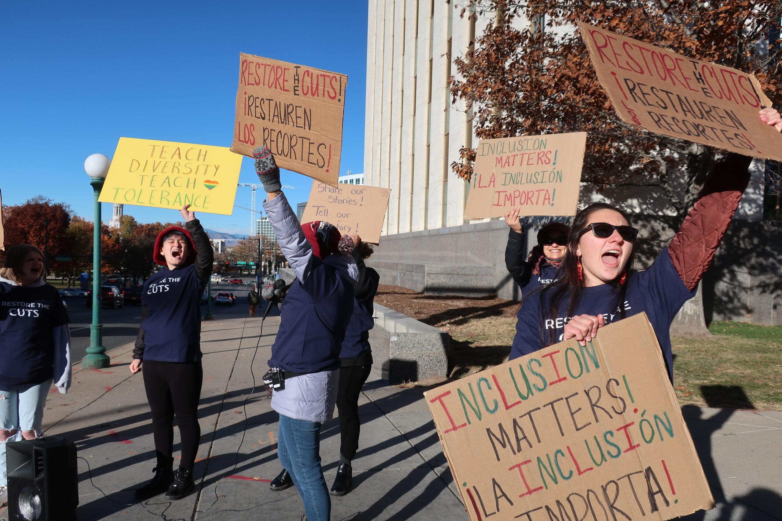
[{"label": "black pants of the person holding the yellow sign", "polygon": [[145,360],[144,388],[152,410],[155,451],[170,459],[174,448],[174,415],[182,444],[180,467],[192,470],[201,438],[198,402],[201,398],[201,362],[174,363]]}]

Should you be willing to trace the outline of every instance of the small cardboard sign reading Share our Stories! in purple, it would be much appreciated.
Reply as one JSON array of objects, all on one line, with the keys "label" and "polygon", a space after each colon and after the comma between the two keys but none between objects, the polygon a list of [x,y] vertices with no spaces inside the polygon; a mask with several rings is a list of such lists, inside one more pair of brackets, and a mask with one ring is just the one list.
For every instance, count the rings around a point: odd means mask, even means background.
[{"label": "small cardboard sign reading Share our Stories! in purple", "polygon": [[390,195],[390,188],[361,184],[332,187],[315,181],[301,221],[328,221],[339,229],[340,234],[352,232],[358,234],[361,241],[379,244]]}]

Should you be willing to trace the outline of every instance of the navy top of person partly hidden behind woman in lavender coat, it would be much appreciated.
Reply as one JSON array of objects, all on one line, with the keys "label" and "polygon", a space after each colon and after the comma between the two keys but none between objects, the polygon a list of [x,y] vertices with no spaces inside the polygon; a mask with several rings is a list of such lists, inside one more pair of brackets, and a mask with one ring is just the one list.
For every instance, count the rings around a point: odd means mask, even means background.
[{"label": "navy top of person partly hidden behind woman in lavender coat", "polygon": [[351,255],[358,267],[356,299],[353,302],[353,316],[350,317],[339,358],[343,367],[371,366],[372,348],[369,344],[369,330],[375,326],[372,315],[375,311],[375,294],[378,293],[380,275],[368,268],[361,259],[361,248]]}]

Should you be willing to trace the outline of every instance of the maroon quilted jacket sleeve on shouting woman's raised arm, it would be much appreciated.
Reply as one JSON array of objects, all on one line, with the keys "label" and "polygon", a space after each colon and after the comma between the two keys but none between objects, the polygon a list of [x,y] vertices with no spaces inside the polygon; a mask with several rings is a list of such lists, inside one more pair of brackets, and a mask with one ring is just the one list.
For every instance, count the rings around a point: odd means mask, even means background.
[{"label": "maroon quilted jacket sleeve on shouting woman's raised arm", "polygon": [[730,153],[708,173],[698,202],[669,245],[673,267],[692,291],[711,266],[730,219],[749,184],[752,158]]}]

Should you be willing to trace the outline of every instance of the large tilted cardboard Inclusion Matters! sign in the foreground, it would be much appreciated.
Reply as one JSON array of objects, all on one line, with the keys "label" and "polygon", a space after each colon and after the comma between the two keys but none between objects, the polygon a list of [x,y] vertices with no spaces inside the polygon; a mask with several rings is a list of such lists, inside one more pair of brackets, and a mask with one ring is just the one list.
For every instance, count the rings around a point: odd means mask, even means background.
[{"label": "large tilted cardboard Inclusion Matters! sign in the foreground", "polygon": [[425,398],[473,521],[662,520],[714,506],[644,313],[587,347],[554,344]]}]

